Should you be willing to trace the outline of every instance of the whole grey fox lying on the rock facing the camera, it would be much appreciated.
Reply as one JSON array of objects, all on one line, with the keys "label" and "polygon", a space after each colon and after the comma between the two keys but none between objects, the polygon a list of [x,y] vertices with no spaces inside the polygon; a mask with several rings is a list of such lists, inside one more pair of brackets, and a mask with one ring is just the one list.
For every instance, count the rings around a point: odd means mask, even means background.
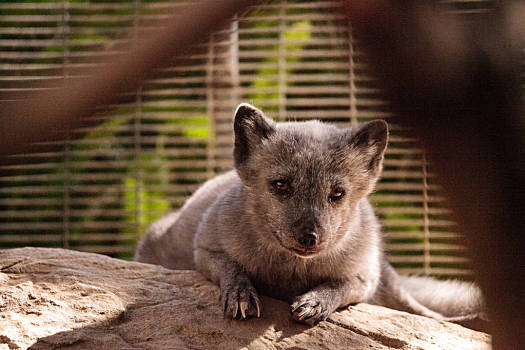
[{"label": "whole grey fox lying on the rock facing the camera", "polygon": [[307,323],[358,302],[453,321],[482,311],[477,287],[398,276],[386,261],[366,199],[382,169],[384,121],[275,123],[241,104],[234,131],[235,170],[154,223],[136,260],[197,269],[232,318],[260,316],[259,293],[287,300]]}]

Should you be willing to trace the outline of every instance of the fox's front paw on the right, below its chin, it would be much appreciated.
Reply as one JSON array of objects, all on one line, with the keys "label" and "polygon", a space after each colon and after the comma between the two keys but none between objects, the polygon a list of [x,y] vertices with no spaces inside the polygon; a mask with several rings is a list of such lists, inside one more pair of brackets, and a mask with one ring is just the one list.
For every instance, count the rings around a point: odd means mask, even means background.
[{"label": "fox's front paw on the right, below its chin", "polygon": [[290,305],[292,318],[295,321],[314,325],[324,321],[333,312],[331,300],[319,295],[315,291],[295,297]]}]

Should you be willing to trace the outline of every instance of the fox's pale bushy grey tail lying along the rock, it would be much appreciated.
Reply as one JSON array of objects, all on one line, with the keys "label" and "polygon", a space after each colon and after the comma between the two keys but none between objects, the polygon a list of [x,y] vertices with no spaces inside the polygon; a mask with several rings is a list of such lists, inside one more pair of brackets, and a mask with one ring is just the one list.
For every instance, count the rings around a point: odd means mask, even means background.
[{"label": "fox's pale bushy grey tail lying along the rock", "polygon": [[438,320],[486,330],[483,296],[472,282],[403,276],[385,263],[376,303]]}]

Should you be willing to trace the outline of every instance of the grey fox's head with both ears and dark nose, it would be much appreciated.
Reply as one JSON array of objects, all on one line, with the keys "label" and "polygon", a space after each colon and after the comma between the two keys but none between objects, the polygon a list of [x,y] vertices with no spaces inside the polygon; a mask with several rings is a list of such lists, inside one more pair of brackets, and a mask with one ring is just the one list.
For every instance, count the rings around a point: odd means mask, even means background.
[{"label": "grey fox's head with both ears and dark nose", "polygon": [[271,235],[301,257],[336,247],[379,178],[386,122],[344,129],[319,121],[275,123],[243,103],[234,131],[235,168],[256,234]]}]

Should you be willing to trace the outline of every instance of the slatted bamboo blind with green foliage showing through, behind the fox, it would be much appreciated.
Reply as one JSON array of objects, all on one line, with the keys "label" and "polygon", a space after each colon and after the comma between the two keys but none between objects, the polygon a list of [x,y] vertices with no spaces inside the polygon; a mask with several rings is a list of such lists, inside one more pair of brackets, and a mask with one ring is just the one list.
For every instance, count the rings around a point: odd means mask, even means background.
[{"label": "slatted bamboo blind with green foliage showing through, behind the fox", "polygon": [[[492,1],[443,1],[467,16]],[[0,100],[81,76],[155,26],[180,1],[0,3]],[[181,7],[182,8],[182,7]],[[332,1],[253,8],[174,61],[127,102],[95,118],[60,152],[32,155],[0,177],[0,247],[60,246],[129,258],[147,226],[232,166],[232,113],[241,101],[276,120],[340,126],[391,116],[351,25]],[[183,10],[181,10],[183,11]],[[129,31],[130,29],[131,32]],[[128,33],[128,36],[123,35]],[[34,159],[36,158],[36,160]],[[372,195],[392,263],[402,272],[469,275],[432,166],[409,130],[391,125]]]}]

